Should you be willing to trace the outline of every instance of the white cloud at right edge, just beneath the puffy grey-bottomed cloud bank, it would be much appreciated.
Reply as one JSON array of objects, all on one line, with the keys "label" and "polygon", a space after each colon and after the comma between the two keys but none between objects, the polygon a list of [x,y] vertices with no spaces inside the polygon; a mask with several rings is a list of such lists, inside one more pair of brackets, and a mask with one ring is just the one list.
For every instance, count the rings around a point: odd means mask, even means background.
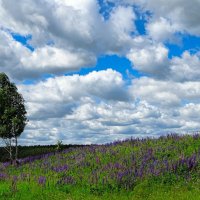
[{"label": "white cloud at right edge, just beneath the puffy grey-bottomed cloud bank", "polygon": [[129,88],[132,96],[158,107],[181,107],[184,102],[196,103],[200,98],[200,82],[174,82],[143,77],[135,79]]}]

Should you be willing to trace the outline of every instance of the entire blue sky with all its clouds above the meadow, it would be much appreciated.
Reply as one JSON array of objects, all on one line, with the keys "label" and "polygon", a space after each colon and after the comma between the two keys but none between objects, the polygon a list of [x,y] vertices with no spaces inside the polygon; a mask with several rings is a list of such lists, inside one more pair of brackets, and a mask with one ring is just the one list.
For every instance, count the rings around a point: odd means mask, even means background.
[{"label": "entire blue sky with all its clouds above the meadow", "polygon": [[200,130],[200,0],[0,0],[21,145]]}]

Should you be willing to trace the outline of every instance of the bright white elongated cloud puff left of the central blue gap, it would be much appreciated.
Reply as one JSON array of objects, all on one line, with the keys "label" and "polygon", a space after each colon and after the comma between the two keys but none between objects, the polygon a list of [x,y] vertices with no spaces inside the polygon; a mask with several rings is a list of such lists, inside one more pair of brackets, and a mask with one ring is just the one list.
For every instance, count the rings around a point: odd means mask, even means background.
[{"label": "bright white elongated cloud puff left of the central blue gap", "polygon": [[87,52],[71,52],[66,49],[45,46],[36,49],[28,57],[22,57],[21,63],[24,68],[40,73],[53,73],[63,71],[75,71],[82,66],[94,65],[96,58]]}]

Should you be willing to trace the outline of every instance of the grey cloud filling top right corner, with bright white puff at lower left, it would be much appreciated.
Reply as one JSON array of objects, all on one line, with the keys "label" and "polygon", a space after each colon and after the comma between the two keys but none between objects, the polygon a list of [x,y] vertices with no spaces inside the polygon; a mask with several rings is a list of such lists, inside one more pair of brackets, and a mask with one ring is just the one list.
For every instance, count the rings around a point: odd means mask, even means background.
[{"label": "grey cloud filling top right corner, with bright white puff at lower left", "polygon": [[[189,33],[192,35],[200,36],[200,2],[199,0],[107,0],[117,5],[137,5],[143,11],[150,11],[153,16],[151,20],[150,34],[155,33],[153,38],[165,39],[165,36],[171,35],[173,32]],[[158,32],[158,25],[161,28]],[[164,30],[166,32],[164,32]]]}]

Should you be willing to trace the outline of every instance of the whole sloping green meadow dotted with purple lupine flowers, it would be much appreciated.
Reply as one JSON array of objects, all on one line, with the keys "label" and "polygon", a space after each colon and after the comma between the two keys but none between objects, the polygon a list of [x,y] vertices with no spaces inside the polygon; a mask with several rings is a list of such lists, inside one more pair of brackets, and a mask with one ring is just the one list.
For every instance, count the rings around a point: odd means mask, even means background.
[{"label": "whole sloping green meadow dotted with purple lupine flowers", "polygon": [[200,199],[200,136],[68,148],[0,165],[0,199]]}]

